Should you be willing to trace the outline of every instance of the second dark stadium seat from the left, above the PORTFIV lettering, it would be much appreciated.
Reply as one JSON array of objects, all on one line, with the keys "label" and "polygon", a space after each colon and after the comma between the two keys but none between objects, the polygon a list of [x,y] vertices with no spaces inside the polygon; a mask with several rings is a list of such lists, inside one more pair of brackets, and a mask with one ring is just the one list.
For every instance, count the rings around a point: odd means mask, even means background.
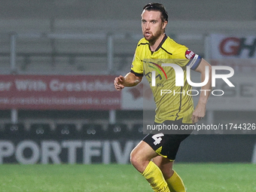
[{"label": "second dark stadium seat from the left, above the PORTFIV lettering", "polygon": [[31,139],[51,139],[53,136],[48,123],[33,123],[30,126],[28,137]]}]

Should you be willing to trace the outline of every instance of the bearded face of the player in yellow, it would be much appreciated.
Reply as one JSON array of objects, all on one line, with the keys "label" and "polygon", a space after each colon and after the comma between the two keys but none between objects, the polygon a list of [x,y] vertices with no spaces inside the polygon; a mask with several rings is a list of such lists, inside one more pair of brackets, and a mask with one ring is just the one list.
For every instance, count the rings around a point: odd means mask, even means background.
[{"label": "bearded face of the player in yellow", "polygon": [[142,12],[142,33],[146,40],[155,42],[163,35],[167,22],[161,20],[160,11]]}]

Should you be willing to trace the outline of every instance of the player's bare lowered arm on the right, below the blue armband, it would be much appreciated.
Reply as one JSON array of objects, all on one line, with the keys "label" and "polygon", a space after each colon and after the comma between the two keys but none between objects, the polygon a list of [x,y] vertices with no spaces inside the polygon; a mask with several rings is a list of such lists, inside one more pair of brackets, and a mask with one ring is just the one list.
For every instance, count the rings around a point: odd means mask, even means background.
[{"label": "player's bare lowered arm on the right, below the blue armband", "polygon": [[201,59],[201,62],[195,71],[201,73],[201,82],[203,82],[206,78],[206,66],[209,68],[209,81],[201,88],[203,91],[200,93],[200,99],[191,117],[193,123],[197,123],[198,120],[202,119],[206,115],[206,103],[212,90],[212,67],[209,62],[205,59]]}]

